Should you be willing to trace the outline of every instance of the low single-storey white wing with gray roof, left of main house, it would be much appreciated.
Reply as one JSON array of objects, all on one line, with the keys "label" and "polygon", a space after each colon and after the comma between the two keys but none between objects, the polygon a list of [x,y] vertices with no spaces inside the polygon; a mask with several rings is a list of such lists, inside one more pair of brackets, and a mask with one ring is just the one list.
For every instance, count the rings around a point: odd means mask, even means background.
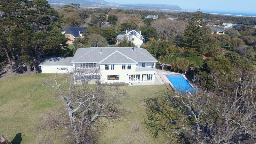
[{"label": "low single-storey white wing with gray roof, left of main house", "polygon": [[39,65],[42,73],[67,73],[73,69],[73,57],[47,57]]}]

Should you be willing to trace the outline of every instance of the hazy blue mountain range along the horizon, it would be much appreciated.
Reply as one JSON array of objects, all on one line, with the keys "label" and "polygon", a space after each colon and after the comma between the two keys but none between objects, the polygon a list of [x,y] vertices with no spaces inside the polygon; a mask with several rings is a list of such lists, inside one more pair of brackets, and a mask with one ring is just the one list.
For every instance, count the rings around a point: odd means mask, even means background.
[{"label": "hazy blue mountain range along the horizon", "polygon": [[70,4],[76,3],[81,5],[96,5],[96,6],[116,6],[128,7],[136,9],[166,9],[166,10],[182,10],[178,5],[169,4],[116,4],[108,3],[104,0],[48,0],[50,4]]}]

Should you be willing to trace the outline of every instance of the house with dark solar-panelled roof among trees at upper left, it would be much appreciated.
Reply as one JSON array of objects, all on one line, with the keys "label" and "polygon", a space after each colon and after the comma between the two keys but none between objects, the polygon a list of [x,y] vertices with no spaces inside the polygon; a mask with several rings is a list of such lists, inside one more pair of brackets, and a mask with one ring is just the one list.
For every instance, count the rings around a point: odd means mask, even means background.
[{"label": "house with dark solar-panelled roof among trees at upper left", "polygon": [[75,38],[83,38],[83,30],[88,27],[68,27],[65,31],[61,32],[68,38],[67,44],[73,44]]}]

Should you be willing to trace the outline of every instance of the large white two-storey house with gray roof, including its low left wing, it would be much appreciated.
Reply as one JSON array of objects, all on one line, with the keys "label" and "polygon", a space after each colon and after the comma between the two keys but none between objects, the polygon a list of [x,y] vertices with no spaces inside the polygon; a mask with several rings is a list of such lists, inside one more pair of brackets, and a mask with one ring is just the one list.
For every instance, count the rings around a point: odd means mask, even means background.
[{"label": "large white two-storey house with gray roof, including its low left wing", "polygon": [[76,80],[100,78],[103,83],[139,83],[155,81],[155,66],[157,60],[146,49],[134,47],[80,48],[77,49],[74,57],[68,58],[69,59],[66,60],[48,58],[49,60],[47,59],[40,64],[42,72],[54,73],[57,71],[56,67],[66,68],[70,66],[68,70],[80,68],[95,68],[95,70],[100,70],[100,72],[95,75],[90,73],[79,74]]}]

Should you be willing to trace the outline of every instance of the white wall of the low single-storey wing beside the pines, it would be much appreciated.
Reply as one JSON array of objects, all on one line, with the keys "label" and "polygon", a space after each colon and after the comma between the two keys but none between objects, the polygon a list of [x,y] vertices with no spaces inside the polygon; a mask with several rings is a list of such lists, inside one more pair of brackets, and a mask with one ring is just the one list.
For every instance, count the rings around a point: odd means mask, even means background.
[{"label": "white wall of the low single-storey wing beside the pines", "polygon": [[[60,68],[68,68],[68,70],[61,70]],[[68,66],[41,66],[42,73],[68,73],[73,70],[73,65]]]}]

